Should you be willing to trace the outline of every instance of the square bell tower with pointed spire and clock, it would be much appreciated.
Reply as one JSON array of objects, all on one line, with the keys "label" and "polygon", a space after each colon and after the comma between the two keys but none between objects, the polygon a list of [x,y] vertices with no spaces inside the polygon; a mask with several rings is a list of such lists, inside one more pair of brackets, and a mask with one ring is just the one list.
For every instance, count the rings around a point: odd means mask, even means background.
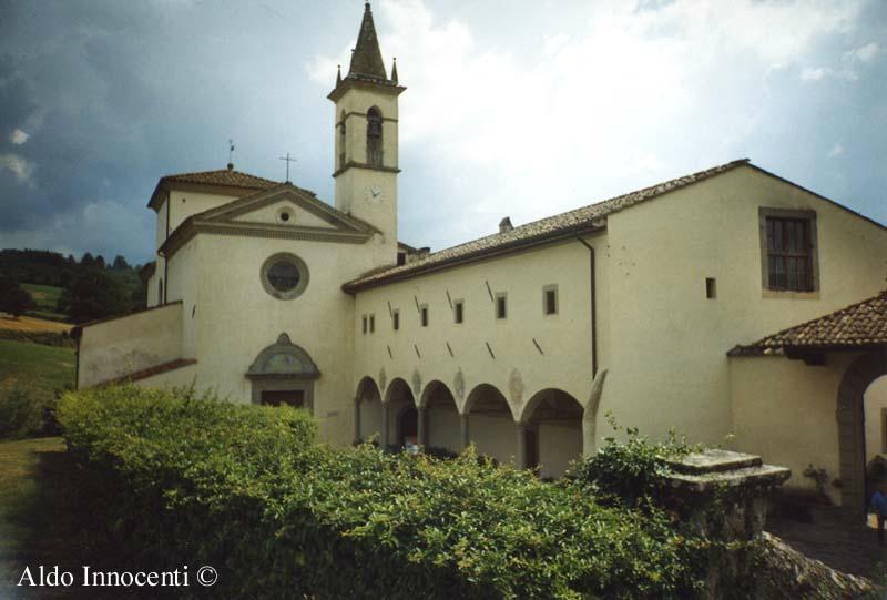
[{"label": "square bell tower with pointed spire and clock", "polygon": [[348,74],[343,78],[339,68],[327,96],[336,104],[333,176],[336,209],[377,227],[390,263],[397,261],[397,98],[404,90],[397,62],[390,79],[385,71],[367,2]]}]

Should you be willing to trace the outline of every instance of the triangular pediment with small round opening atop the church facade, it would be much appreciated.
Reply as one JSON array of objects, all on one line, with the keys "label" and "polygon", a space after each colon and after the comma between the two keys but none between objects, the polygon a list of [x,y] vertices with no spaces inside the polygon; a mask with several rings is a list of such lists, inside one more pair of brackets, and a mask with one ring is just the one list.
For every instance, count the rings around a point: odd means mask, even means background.
[{"label": "triangular pediment with small round opening atop the church facade", "polygon": [[283,184],[206,211],[195,218],[202,223],[267,226],[284,231],[373,233],[374,227],[317,200],[294,185]]}]

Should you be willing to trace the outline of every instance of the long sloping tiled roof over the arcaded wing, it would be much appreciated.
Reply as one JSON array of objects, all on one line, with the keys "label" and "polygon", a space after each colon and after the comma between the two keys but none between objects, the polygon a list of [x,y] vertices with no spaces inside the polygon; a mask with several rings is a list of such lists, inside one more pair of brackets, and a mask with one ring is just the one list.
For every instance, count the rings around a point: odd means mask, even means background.
[{"label": "long sloping tiled roof over the arcaded wing", "polygon": [[606,215],[669,192],[680,190],[681,187],[686,187],[687,185],[692,185],[708,177],[720,175],[721,173],[745,164],[748,164],[748,159],[733,161],[693,173],[692,175],[685,175],[664,183],[651,185],[650,187],[644,187],[643,190],[612,197],[597,204],[527,223],[526,225],[514,227],[504,233],[488,235],[466,244],[441,250],[440,252],[429,254],[426,258],[402,266],[385,267],[369,272],[357,279],[346,283],[343,288],[351,293],[366,287],[373,287],[387,282],[418,275],[427,271],[434,271],[449,264],[496,254],[500,251],[504,252],[514,247],[530,245],[559,236],[600,228],[604,225]]}]

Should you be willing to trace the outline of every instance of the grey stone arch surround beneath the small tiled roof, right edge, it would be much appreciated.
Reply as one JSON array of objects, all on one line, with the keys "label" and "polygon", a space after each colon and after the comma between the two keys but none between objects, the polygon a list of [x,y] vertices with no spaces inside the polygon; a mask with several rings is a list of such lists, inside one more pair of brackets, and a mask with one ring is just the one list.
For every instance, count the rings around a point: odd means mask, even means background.
[{"label": "grey stone arch surround beneath the small tiled roof, right edge", "polygon": [[864,395],[885,374],[887,355],[866,354],[850,363],[838,386],[840,505],[860,516],[866,509]]}]

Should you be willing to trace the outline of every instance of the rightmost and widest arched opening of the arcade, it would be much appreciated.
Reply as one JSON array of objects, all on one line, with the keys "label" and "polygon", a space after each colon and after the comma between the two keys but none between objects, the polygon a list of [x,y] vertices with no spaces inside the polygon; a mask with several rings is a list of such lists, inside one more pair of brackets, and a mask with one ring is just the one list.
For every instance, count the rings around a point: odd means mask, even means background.
[{"label": "rightmost and widest arched opening of the arcade", "polygon": [[561,477],[582,458],[582,405],[570,394],[547,388],[523,408],[523,459],[540,477]]}]

